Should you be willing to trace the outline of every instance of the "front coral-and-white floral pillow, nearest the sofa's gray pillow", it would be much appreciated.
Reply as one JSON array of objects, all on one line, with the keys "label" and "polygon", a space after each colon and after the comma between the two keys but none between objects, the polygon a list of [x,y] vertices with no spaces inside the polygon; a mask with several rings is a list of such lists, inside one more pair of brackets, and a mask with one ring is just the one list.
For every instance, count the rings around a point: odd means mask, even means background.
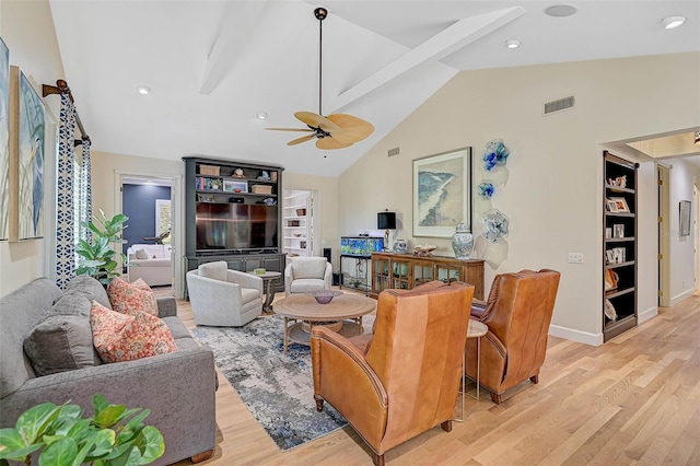
[{"label": "front coral-and-white floral pillow, nearest the sofa's gray pillow", "polygon": [[93,301],[90,324],[93,343],[104,362],[132,361],[177,351],[167,325],[145,312],[121,314]]}]

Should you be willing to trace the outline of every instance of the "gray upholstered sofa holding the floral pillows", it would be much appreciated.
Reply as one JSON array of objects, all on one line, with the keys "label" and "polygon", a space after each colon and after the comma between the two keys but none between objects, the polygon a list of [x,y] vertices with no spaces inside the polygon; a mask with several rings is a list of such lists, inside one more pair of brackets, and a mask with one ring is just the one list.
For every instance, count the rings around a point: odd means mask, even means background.
[{"label": "gray upholstered sofa holding the floral pillows", "polygon": [[[92,396],[98,393],[109,403],[151,410],[145,423],[156,427],[165,440],[165,453],[154,464],[206,458],[215,440],[214,359],[177,317],[175,299],[158,301],[159,316],[171,329],[177,351],[110,364],[102,363],[90,347],[85,299],[109,304],[104,288],[85,276],[73,279],[65,292],[39,278],[0,300],[0,428],[14,426],[22,412],[45,401],[71,400],[91,412]],[[36,341],[25,347],[25,338],[36,336],[39,327],[49,328],[45,334],[51,338],[60,336],[49,340],[48,348]],[[81,343],[82,353],[69,348]],[[71,354],[71,350],[74,356],[63,363],[62,372],[38,376],[33,363],[40,373],[46,368],[30,359],[25,348],[33,357],[47,349],[52,356]]]}]

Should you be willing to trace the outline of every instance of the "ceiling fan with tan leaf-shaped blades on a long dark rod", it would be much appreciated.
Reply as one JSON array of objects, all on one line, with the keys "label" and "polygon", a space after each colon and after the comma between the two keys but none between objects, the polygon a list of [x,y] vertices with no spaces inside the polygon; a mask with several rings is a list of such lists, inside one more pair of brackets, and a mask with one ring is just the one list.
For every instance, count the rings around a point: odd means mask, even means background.
[{"label": "ceiling fan with tan leaf-shaped blades on a long dark rod", "polygon": [[374,132],[374,126],[352,115],[332,114],[323,116],[322,108],[322,61],[323,61],[323,21],[328,15],[325,8],[314,10],[314,15],[318,20],[318,113],[296,112],[296,119],[307,126],[307,128],[267,128],[273,131],[302,131],[310,135],[293,139],[287,145],[296,145],[302,142],[316,139],[318,149],[342,149],[359,142]]}]

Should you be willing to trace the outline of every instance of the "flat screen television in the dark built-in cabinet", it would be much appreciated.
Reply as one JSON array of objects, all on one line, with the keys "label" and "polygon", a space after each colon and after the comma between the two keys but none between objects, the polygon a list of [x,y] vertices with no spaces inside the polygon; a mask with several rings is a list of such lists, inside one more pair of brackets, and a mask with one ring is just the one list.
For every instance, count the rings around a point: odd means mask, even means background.
[{"label": "flat screen television in the dark built-in cabinet", "polygon": [[197,253],[277,251],[277,206],[197,202]]}]

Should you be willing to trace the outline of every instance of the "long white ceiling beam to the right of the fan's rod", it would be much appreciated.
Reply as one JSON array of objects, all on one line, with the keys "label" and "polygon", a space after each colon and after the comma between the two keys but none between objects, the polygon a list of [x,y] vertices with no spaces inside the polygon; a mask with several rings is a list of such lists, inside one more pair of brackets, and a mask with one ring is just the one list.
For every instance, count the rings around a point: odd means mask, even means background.
[{"label": "long white ceiling beam to the right of the fan's rod", "polygon": [[440,60],[525,14],[522,7],[465,18],[342,92],[332,102],[337,112],[428,60]]}]

